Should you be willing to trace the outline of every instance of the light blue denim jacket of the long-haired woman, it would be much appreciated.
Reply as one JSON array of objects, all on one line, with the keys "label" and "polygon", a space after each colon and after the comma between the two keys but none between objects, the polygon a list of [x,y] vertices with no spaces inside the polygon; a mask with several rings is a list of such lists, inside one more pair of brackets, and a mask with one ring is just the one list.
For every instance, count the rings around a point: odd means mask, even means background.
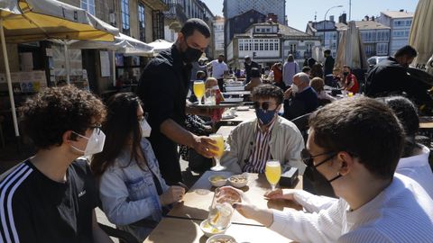
[{"label": "light blue denim jacket of the long-haired woman", "polygon": [[129,163],[130,152],[123,150],[114,165],[101,175],[99,193],[108,220],[143,240],[152,229],[140,229],[129,224],[143,219],[159,221],[162,218],[161,202],[149,169],[158,177],[164,192],[169,186],[161,177],[158,160],[149,140],[143,138],[141,146],[148,163],[146,170],[141,169],[134,159]]}]

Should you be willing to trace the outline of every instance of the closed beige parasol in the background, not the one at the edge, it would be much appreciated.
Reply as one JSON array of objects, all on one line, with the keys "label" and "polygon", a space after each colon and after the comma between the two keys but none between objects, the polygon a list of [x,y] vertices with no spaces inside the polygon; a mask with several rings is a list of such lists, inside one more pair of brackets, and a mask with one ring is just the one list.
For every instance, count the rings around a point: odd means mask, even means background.
[{"label": "closed beige parasol in the background, not the one at the edge", "polygon": [[368,67],[363,40],[361,40],[355,21],[350,22],[347,30],[343,31],[336,52],[336,67],[341,68],[345,65],[353,69]]}]

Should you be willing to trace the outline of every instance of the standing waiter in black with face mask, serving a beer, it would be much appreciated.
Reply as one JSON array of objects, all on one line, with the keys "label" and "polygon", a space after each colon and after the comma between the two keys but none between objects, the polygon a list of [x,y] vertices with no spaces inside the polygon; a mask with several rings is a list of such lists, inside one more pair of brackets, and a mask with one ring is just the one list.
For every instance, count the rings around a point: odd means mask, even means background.
[{"label": "standing waiter in black with face mask, serving a beer", "polygon": [[160,165],[161,175],[167,184],[182,181],[178,144],[194,148],[205,157],[213,157],[210,149],[215,141],[198,137],[183,127],[191,63],[198,61],[210,40],[210,30],[199,19],[189,19],[178,33],[171,49],[162,51],[144,67],[137,94],[143,100],[144,111],[152,127],[153,151]]}]

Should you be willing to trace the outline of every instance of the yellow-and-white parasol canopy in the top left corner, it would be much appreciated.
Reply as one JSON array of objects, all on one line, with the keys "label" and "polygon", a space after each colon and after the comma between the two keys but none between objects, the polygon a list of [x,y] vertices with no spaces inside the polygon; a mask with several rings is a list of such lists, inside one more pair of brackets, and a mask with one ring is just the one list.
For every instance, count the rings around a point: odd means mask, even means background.
[{"label": "yellow-and-white parasol canopy in the top left corner", "polygon": [[[18,3],[14,4],[14,3]],[[87,11],[56,0],[2,0],[7,42],[44,39],[113,41],[118,30]]]}]

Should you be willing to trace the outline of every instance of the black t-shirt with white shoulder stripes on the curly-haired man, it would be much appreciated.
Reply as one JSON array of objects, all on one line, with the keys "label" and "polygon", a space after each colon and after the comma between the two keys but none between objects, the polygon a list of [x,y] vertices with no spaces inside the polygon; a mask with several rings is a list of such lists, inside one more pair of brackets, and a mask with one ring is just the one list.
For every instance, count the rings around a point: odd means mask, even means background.
[{"label": "black t-shirt with white shoulder stripes on the curly-haired man", "polygon": [[86,160],[58,183],[27,160],[0,176],[1,242],[93,242],[97,187]]}]

